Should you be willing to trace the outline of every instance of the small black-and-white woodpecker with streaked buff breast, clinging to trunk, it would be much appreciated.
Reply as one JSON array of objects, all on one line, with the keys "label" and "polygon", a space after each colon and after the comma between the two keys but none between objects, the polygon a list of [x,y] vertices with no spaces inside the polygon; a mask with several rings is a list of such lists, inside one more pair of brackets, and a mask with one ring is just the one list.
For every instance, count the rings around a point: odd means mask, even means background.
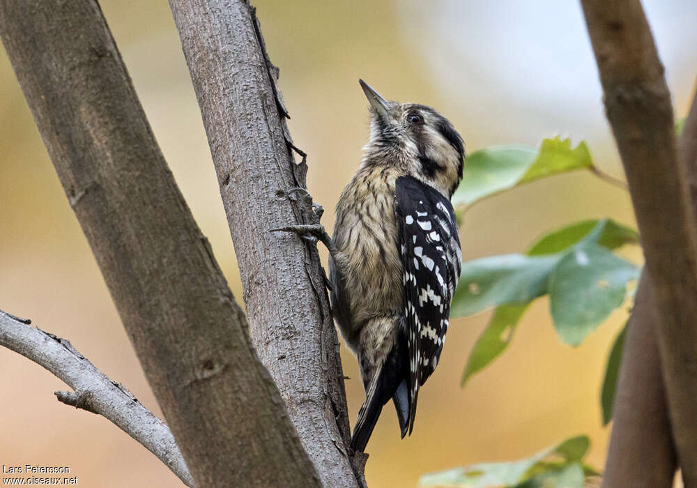
[{"label": "small black-and-white woodpecker with streaked buff breast, clinging to trunk", "polygon": [[436,110],[387,101],[359,83],[370,104],[370,138],[339,197],[333,237],[319,224],[275,230],[310,234],[330,251],[334,319],[358,356],[366,393],[351,447],[364,451],[390,399],[401,437],[411,434],[419,388],[438,365],[460,275],[450,197],[465,151]]}]

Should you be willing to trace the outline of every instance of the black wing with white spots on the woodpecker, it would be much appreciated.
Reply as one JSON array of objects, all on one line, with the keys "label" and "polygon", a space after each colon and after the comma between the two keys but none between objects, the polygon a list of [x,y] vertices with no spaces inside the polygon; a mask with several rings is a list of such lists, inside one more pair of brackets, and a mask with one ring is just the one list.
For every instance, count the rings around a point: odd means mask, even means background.
[{"label": "black wing with white spots on the woodpecker", "polygon": [[436,369],[443,350],[461,251],[450,200],[426,183],[411,176],[397,178],[395,212],[404,264],[411,434],[419,387]]}]

